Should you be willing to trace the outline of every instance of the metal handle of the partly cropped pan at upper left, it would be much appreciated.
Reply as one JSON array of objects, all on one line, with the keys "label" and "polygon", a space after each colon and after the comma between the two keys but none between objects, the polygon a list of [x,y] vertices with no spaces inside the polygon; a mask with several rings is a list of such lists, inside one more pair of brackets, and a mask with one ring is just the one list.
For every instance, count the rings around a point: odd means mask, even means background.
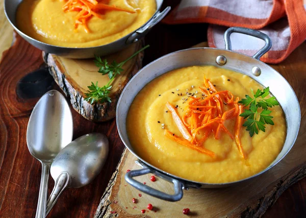
[{"label": "metal handle of the partly cropped pan at upper left", "polygon": [[159,23],[170,11],[171,7],[168,6],[165,10],[162,12],[156,12],[156,14],[145,24],[143,27],[136,30],[135,33],[133,33],[127,40],[125,41],[125,44],[131,44],[134,42],[137,42],[140,38],[144,37],[147,32],[155,26],[155,24]]}]

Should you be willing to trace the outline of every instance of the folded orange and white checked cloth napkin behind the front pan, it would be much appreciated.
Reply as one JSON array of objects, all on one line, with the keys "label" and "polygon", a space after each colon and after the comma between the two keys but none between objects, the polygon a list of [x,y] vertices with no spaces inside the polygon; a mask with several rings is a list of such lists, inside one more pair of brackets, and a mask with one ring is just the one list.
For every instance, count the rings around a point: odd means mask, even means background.
[{"label": "folded orange and white checked cloth napkin behind the front pan", "polygon": [[[277,64],[306,39],[306,0],[182,0],[163,22],[211,23],[208,43],[217,48],[224,48],[228,26],[259,29],[272,40],[271,50],[261,60]],[[231,41],[233,50],[248,55],[265,44],[237,33],[231,35]]]}]

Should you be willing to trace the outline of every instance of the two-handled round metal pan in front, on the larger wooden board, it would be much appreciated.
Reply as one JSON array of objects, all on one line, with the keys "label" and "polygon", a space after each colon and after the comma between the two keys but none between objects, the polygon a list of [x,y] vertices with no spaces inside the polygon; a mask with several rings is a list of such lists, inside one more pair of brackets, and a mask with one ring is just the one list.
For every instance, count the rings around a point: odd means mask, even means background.
[{"label": "two-handled round metal pan in front, on the larger wooden board", "polygon": [[[253,57],[231,51],[230,35],[233,32],[263,39],[266,41],[266,45]],[[226,49],[192,48],[167,54],[140,70],[123,89],[117,105],[116,121],[118,132],[126,148],[129,149],[138,158],[136,163],[143,167],[143,169],[132,170],[126,173],[125,180],[141,192],[167,201],[179,201],[183,197],[183,189],[222,188],[224,186],[241,183],[245,180],[249,180],[258,176],[275,166],[292,148],[298,134],[301,119],[299,103],[292,87],[289,85],[287,80],[273,68],[259,60],[259,58],[271,48],[270,38],[257,30],[231,27],[226,30],[224,34],[224,40]],[[166,72],[188,66],[203,65],[213,65],[250,76],[252,79],[261,83],[263,86],[269,86],[271,93],[276,97],[277,101],[282,106],[287,121],[286,141],[282,151],[278,154],[277,158],[270,164],[269,167],[263,171],[235,182],[201,183],[187,180],[158,169],[157,167],[152,166],[148,162],[144,161],[137,153],[135,153],[126,134],[126,115],[138,92],[148,82]],[[154,173],[157,176],[172,182],[174,184],[175,194],[165,194],[158,190],[152,189],[133,178],[135,176],[145,175],[148,173]]]}]

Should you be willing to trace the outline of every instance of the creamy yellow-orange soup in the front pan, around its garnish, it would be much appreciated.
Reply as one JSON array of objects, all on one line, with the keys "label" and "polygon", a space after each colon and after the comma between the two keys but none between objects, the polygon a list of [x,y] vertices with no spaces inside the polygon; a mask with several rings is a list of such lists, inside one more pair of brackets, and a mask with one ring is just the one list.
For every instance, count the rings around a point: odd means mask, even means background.
[{"label": "creamy yellow-orange soup in the front pan, around its garnish", "polygon": [[[186,103],[183,104],[183,98],[187,98],[186,90],[200,95],[198,87],[203,85],[203,75],[210,78],[218,90],[229,90],[239,99],[245,98],[245,95],[252,97],[251,88],[263,89],[246,75],[213,66],[188,67],[165,73],[138,93],[127,114],[127,134],[135,152],[157,168],[198,182],[231,182],[264,170],[281,152],[286,138],[286,120],[280,106],[269,108],[274,126],[266,124],[266,132],[260,131],[250,137],[246,128],[242,127],[240,135],[247,157],[245,160],[241,158],[235,140],[227,134],[222,134],[219,140],[211,134],[202,145],[215,152],[217,158],[183,146],[164,135],[166,129],[183,138],[171,113],[166,113],[166,103],[177,105],[175,110],[182,117],[186,107]],[[162,124],[165,124],[164,129]],[[229,120],[225,126],[233,132],[235,123]]]}]

